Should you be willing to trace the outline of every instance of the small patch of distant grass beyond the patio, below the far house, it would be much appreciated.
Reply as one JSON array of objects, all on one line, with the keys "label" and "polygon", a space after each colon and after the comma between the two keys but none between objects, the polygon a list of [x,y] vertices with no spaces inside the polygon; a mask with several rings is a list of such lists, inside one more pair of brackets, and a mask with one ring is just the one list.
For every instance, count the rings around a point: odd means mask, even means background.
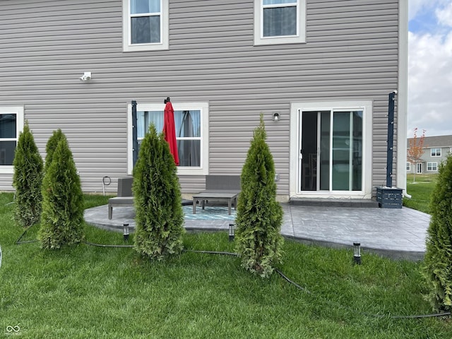
[{"label": "small patch of distant grass beyond the patio, below the far house", "polygon": [[[411,198],[403,198],[403,206],[430,213],[429,203],[437,174],[413,174],[407,176],[407,192]],[[413,182],[415,181],[415,182]]]}]

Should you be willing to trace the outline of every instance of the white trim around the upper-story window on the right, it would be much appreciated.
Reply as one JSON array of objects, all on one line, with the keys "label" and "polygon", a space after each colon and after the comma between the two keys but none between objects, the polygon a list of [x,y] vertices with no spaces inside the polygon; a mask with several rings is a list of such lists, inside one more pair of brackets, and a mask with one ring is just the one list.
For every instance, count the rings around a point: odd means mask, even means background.
[{"label": "white trim around the upper-story window on the right", "polygon": [[297,1],[297,35],[287,37],[263,37],[263,0],[254,0],[254,45],[300,44],[306,42],[306,0]]}]

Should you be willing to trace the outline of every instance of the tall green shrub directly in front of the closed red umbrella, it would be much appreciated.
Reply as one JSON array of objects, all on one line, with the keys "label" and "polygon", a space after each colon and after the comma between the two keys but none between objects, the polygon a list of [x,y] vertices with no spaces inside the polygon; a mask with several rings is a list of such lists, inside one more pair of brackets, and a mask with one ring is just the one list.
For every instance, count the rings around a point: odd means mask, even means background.
[{"label": "tall green shrub directly in front of the closed red umbrella", "polygon": [[133,196],[136,209],[135,249],[161,260],[182,251],[184,211],[174,159],[163,134],[149,127],[135,168]]}]

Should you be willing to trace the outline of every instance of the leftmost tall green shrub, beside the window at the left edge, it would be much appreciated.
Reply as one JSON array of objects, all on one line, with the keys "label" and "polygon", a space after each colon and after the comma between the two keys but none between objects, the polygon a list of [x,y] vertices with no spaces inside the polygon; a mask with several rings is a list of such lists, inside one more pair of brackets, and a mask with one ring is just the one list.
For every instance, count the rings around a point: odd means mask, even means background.
[{"label": "leftmost tall green shrub, beside the window at the left edge", "polygon": [[20,226],[31,227],[41,218],[43,165],[28,121],[19,134],[13,166],[13,187],[16,189],[14,220]]}]

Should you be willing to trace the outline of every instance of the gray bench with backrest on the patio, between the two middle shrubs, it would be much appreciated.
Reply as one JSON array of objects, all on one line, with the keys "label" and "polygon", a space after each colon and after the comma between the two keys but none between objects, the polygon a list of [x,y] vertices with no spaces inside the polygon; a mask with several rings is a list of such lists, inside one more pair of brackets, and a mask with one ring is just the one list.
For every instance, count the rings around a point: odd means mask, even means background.
[{"label": "gray bench with backrest on the patio, between the two middle shrubs", "polygon": [[196,214],[196,201],[201,208],[210,201],[227,201],[227,209],[231,215],[232,205],[237,209],[237,197],[240,193],[239,175],[206,175],[206,189],[193,196],[193,214]]}]

